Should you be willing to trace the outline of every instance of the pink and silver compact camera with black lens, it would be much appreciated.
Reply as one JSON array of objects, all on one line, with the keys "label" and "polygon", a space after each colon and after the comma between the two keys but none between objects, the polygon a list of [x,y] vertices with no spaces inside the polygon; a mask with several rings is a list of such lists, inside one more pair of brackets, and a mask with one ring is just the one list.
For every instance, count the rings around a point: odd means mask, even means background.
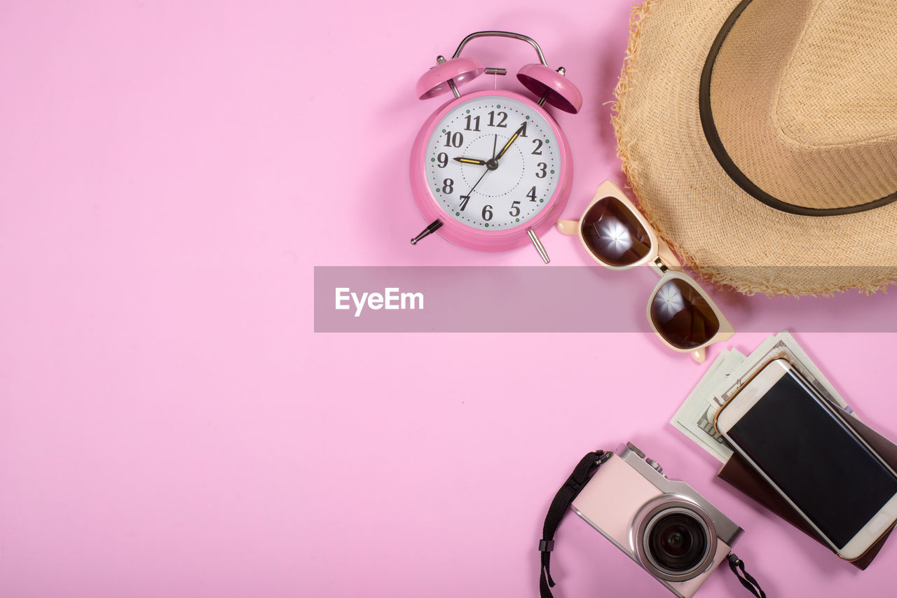
[{"label": "pink and silver compact camera with black lens", "polygon": [[598,468],[571,507],[679,598],[698,591],[742,533],[631,443]]}]

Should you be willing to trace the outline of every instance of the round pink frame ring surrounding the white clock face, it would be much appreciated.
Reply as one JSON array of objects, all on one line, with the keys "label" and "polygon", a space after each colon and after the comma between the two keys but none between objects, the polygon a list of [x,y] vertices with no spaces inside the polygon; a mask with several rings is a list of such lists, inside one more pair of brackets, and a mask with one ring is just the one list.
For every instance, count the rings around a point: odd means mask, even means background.
[{"label": "round pink frame ring surrounding the white clock face", "polygon": [[[557,137],[558,145],[560,146],[561,168],[558,173],[558,186],[555,187],[553,195],[548,198],[544,208],[532,219],[506,230],[479,230],[455,220],[453,216],[442,208],[432,195],[431,188],[427,184],[425,172],[426,149],[427,142],[434,129],[442,117],[445,117],[452,108],[467,100],[483,96],[510,98],[524,102],[529,108],[536,110],[540,116],[544,117],[545,122],[552,129],[552,133]],[[528,235],[529,230],[533,230],[536,235],[541,235],[546,230],[551,229],[554,221],[557,220],[567,204],[567,200],[570,199],[572,184],[573,156],[570,152],[570,143],[567,141],[566,135],[563,134],[561,127],[558,126],[547,110],[516,91],[474,91],[459,98],[452,98],[436,110],[423,124],[420,133],[417,134],[417,138],[414,140],[414,146],[411,151],[411,191],[414,196],[414,203],[417,204],[418,209],[421,211],[423,219],[427,222],[441,221],[442,226],[436,232],[442,238],[457,246],[478,251],[507,251],[508,249],[523,247],[531,240]]]}]

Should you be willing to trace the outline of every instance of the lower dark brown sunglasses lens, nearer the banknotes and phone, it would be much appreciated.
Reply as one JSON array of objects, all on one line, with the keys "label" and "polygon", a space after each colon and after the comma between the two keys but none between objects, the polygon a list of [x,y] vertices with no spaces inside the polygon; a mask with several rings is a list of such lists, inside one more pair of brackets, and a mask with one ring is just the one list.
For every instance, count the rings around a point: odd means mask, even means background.
[{"label": "lower dark brown sunglasses lens, nearer the banknotes and phone", "polygon": [[672,278],[651,299],[651,322],[678,349],[698,347],[719,331],[719,318],[689,282]]}]

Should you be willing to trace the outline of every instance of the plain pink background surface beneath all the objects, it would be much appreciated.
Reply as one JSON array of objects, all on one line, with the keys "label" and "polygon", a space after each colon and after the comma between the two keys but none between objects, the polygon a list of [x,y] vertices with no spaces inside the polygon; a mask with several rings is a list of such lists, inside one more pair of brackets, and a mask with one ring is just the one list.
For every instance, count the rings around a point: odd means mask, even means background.
[{"label": "plain pink background surface beneath all the objects", "polygon": [[[770,596],[883,594],[895,542],[860,573],[714,481],[666,423],[703,368],[650,334],[312,332],[314,265],[537,263],[408,243],[440,105],[414,82],[469,32],[583,92],[565,216],[623,182],[630,2],[0,2],[0,594],[536,596],[554,491],[629,439],[745,528]],[[893,335],[793,332],[897,436]],[[557,596],[667,595],[575,516],[557,540]]]}]

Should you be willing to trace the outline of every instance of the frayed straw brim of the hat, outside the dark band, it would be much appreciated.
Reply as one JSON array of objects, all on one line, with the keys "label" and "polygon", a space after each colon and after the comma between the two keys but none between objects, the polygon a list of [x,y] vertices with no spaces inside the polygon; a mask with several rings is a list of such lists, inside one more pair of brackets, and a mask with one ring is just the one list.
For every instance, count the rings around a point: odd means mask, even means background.
[{"label": "frayed straw brim of the hat, outside the dark band", "polygon": [[648,0],[632,13],[614,131],[651,224],[706,279],[768,295],[872,292],[897,281],[897,204],[814,217],[748,195],[720,167],[699,113],[701,71],[739,0]]}]

